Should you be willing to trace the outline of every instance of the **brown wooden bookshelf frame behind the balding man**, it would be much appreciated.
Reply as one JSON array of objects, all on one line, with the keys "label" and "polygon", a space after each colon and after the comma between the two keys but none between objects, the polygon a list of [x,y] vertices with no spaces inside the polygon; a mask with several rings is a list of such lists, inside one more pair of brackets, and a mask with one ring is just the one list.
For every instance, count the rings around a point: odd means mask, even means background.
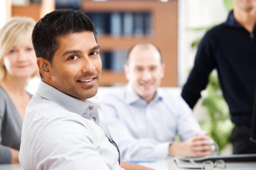
[{"label": "brown wooden bookshelf frame behind the balding man", "polygon": [[[135,43],[152,42],[156,44],[163,55],[166,64],[165,78],[161,86],[177,86],[177,23],[178,2],[170,0],[160,2],[157,0],[109,0],[95,2],[83,0],[80,6],[85,13],[92,12],[150,12],[152,19],[152,33],[150,36],[114,37],[109,34],[100,35],[98,44],[103,51],[128,49]],[[100,85],[110,86],[113,84],[127,83],[124,73],[111,70],[103,70]]]}]

